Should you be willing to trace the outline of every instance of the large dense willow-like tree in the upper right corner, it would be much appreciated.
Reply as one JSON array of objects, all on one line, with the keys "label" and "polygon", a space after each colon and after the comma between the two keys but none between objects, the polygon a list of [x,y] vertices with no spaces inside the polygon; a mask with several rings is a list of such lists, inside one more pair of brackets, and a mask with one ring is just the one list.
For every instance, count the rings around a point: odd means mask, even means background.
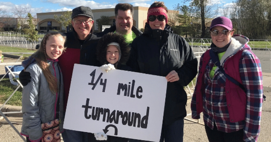
[{"label": "large dense willow-like tree in the upper right corner", "polygon": [[269,0],[237,0],[230,15],[238,34],[254,39],[270,38],[270,6]]}]

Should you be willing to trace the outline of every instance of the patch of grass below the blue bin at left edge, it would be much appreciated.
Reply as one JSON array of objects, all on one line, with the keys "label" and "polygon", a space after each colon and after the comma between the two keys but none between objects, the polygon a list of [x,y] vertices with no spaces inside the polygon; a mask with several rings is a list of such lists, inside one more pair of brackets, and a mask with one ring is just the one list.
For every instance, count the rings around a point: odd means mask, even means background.
[{"label": "patch of grass below the blue bin at left edge", "polygon": [[[17,86],[12,85],[8,78],[3,78],[3,80],[0,81],[0,104],[5,103],[16,88]],[[22,91],[23,89],[20,87],[7,102],[7,104],[22,106]]]}]

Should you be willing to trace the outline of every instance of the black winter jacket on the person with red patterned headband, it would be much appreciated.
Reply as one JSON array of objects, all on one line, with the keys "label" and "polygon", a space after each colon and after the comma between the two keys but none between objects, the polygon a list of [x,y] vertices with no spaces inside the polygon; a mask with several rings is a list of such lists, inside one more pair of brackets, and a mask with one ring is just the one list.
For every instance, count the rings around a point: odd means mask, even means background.
[{"label": "black winter jacket on the person with red patterned headband", "polygon": [[152,30],[146,23],[144,33],[135,38],[131,46],[129,63],[134,71],[164,77],[172,70],[178,73],[178,81],[167,83],[163,125],[183,119],[186,116],[187,102],[183,87],[198,72],[198,61],[189,44],[184,38],[173,34],[168,25],[164,30]]}]

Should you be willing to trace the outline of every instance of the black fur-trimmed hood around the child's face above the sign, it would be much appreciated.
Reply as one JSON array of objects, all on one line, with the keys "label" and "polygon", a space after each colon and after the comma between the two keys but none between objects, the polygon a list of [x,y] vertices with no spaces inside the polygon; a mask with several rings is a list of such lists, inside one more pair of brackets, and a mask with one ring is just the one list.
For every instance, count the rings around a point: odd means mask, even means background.
[{"label": "black fur-trimmed hood around the child's face above the sign", "polygon": [[130,55],[130,47],[129,45],[125,42],[125,39],[123,35],[120,33],[107,33],[103,35],[97,45],[97,60],[100,62],[100,65],[104,64],[109,64],[106,60],[106,50],[107,50],[107,45],[110,44],[111,42],[117,42],[120,44],[120,51],[121,51],[121,57],[120,61],[116,62],[114,64],[115,68],[118,68],[118,65],[125,65],[126,62],[129,59]]}]

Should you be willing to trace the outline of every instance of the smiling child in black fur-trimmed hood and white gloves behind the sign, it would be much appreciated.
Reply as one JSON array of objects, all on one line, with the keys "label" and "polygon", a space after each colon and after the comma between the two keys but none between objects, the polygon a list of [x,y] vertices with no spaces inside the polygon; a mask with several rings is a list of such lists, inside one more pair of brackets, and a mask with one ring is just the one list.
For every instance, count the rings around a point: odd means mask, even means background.
[{"label": "smiling child in black fur-trimmed hood and white gloves behind the sign", "polygon": [[[107,33],[100,38],[96,48],[97,60],[101,66],[105,67],[103,69],[106,71],[110,69],[132,71],[132,68],[125,65],[129,59],[130,47],[125,42],[123,35],[119,33]],[[128,142],[128,138],[106,136],[99,133],[89,133],[88,140],[91,142],[98,142],[100,140],[102,142]]]}]

